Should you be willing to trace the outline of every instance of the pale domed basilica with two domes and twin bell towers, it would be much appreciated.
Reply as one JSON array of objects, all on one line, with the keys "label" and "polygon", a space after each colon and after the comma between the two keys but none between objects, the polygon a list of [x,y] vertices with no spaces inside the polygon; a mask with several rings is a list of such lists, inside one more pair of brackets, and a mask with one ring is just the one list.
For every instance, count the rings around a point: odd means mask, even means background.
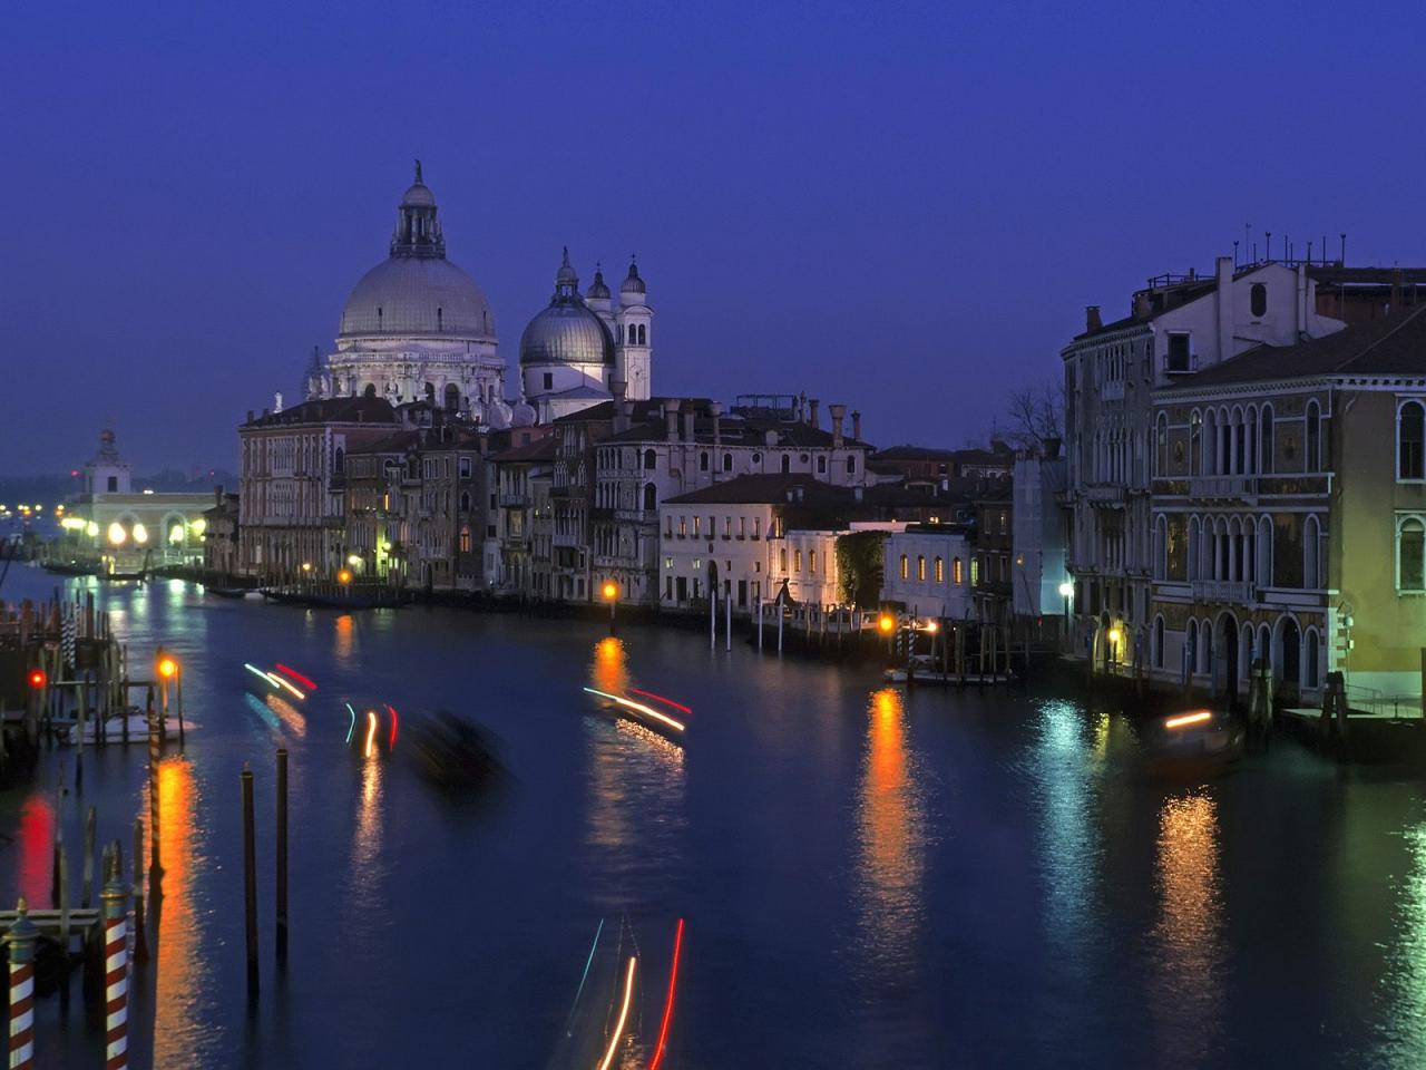
[{"label": "pale domed basilica with two domes and twin bell towers", "polygon": [[389,255],[352,288],[337,348],[325,360],[314,352],[305,395],[425,401],[493,429],[545,424],[607,401],[616,381],[627,384],[630,399],[647,398],[652,321],[633,261],[615,298],[597,268],[580,292],[565,250],[549,304],[520,335],[519,377],[506,384],[491,304],[446,258],[436,200],[418,163],[396,208]]}]

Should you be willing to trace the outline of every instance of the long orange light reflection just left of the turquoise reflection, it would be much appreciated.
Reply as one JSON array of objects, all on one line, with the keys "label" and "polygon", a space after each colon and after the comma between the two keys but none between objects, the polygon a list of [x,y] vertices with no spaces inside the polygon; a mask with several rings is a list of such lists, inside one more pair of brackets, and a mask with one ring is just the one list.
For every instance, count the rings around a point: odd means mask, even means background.
[{"label": "long orange light reflection just left of the turquoise reflection", "polygon": [[925,806],[906,743],[901,692],[871,695],[867,758],[857,807],[857,914],[866,962],[883,976],[911,976],[923,926]]}]

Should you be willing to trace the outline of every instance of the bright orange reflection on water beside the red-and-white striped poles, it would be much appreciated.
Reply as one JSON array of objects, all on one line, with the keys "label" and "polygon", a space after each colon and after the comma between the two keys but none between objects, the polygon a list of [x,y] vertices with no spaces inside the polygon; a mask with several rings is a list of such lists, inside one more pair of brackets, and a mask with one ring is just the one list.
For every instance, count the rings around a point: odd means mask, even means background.
[{"label": "bright orange reflection on water beside the red-and-white striped poles", "polygon": [[[144,813],[148,813],[147,799]],[[194,879],[204,867],[197,827],[198,789],[185,758],[158,763],[158,835],[164,896],[154,936],[154,1066],[187,1067],[215,1053],[221,1027],[200,1014],[212,990],[210,957],[201,953],[202,913],[194,905]],[[145,822],[147,825],[147,822]],[[131,863],[130,863],[131,865]]]}]

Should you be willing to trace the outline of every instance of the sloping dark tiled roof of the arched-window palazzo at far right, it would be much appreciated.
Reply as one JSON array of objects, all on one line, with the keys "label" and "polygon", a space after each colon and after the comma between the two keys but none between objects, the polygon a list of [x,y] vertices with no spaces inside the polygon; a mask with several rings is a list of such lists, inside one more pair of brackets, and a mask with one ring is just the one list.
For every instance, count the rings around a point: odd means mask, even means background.
[{"label": "sloping dark tiled roof of the arched-window palazzo at far right", "polygon": [[1426,375],[1426,305],[1296,345],[1259,345],[1174,389],[1320,375]]}]

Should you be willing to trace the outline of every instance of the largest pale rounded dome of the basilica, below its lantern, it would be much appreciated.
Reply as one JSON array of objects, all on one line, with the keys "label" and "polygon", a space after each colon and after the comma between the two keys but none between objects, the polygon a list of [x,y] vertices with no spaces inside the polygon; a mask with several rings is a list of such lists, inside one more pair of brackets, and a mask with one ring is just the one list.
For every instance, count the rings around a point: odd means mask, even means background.
[{"label": "largest pale rounded dome of the basilica, below its lantern", "polygon": [[394,253],[347,298],[341,334],[495,341],[495,315],[475,280],[445,257]]}]

